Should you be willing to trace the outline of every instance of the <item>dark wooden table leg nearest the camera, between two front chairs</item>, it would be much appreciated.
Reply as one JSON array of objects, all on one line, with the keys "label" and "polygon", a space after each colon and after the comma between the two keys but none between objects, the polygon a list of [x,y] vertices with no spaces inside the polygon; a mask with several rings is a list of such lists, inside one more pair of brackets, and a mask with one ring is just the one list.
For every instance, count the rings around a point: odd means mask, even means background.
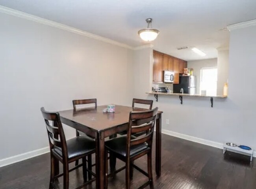
[{"label": "dark wooden table leg nearest the camera, between two front chairs", "polygon": [[104,189],[104,151],[105,151],[104,132],[97,133],[96,137],[96,188]]}]

